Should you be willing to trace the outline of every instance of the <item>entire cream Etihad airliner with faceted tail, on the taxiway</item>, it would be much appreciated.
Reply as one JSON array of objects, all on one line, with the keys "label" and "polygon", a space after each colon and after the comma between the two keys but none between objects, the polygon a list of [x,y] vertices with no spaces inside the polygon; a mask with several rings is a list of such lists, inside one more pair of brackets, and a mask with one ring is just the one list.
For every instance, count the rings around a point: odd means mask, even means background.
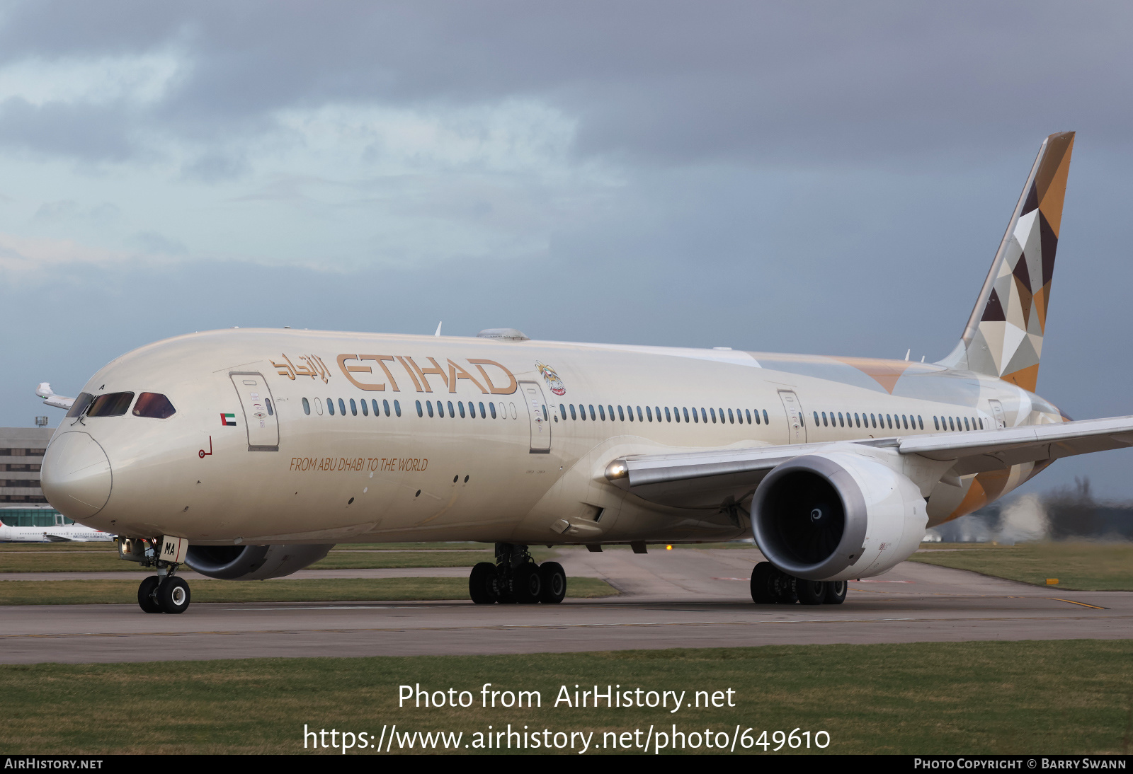
[{"label": "entire cream Etihad airliner with faceted tail, on the taxiway", "polygon": [[[1039,150],[960,344],[938,363],[292,329],[178,336],[75,398],[42,487],[156,568],[288,575],[335,543],[484,541],[472,601],[561,602],[528,545],[755,536],[756,602],[840,603],[932,526],[1058,457],[1133,445],[1034,394],[1073,132]],[[66,405],[67,398],[49,401]]]}]

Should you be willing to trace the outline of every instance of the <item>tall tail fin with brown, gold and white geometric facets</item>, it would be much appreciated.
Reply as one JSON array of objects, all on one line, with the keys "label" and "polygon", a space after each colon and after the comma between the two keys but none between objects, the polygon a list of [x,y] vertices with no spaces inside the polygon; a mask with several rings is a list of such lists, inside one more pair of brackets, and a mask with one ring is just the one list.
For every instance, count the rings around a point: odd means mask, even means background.
[{"label": "tall tail fin with brown, gold and white geometric facets", "polygon": [[1033,392],[1074,132],[1042,141],[960,344],[940,364]]}]

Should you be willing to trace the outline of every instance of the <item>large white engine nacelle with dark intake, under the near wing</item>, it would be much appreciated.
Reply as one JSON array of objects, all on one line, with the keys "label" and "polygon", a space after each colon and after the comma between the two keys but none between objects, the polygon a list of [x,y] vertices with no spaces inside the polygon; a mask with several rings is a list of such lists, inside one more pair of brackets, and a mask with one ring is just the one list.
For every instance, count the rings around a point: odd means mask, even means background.
[{"label": "large white engine nacelle with dark intake, under the near wing", "polygon": [[869,457],[810,454],[768,473],[751,502],[764,556],[810,580],[880,575],[917,550],[925,498],[906,476]]}]

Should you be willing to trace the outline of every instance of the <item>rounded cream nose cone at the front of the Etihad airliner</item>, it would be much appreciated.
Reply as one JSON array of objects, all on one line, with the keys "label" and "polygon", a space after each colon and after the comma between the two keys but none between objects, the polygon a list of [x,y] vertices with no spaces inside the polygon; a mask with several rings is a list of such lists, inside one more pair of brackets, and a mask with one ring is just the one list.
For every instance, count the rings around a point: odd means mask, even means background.
[{"label": "rounded cream nose cone at the front of the Etihad airliner", "polygon": [[82,519],[110,499],[110,459],[99,441],[77,430],[54,438],[43,455],[40,485],[59,513]]}]

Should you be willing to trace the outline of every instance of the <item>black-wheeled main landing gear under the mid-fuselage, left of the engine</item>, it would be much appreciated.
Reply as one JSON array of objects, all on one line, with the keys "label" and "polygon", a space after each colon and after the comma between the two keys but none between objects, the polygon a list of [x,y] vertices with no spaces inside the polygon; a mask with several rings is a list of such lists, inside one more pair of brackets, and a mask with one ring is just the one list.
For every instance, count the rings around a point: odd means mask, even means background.
[{"label": "black-wheeled main landing gear under the mid-fuselage, left of the engine", "polygon": [[468,576],[476,604],[559,604],[566,596],[566,574],[557,561],[536,565],[526,545],[496,543],[496,561],[482,561]]}]

